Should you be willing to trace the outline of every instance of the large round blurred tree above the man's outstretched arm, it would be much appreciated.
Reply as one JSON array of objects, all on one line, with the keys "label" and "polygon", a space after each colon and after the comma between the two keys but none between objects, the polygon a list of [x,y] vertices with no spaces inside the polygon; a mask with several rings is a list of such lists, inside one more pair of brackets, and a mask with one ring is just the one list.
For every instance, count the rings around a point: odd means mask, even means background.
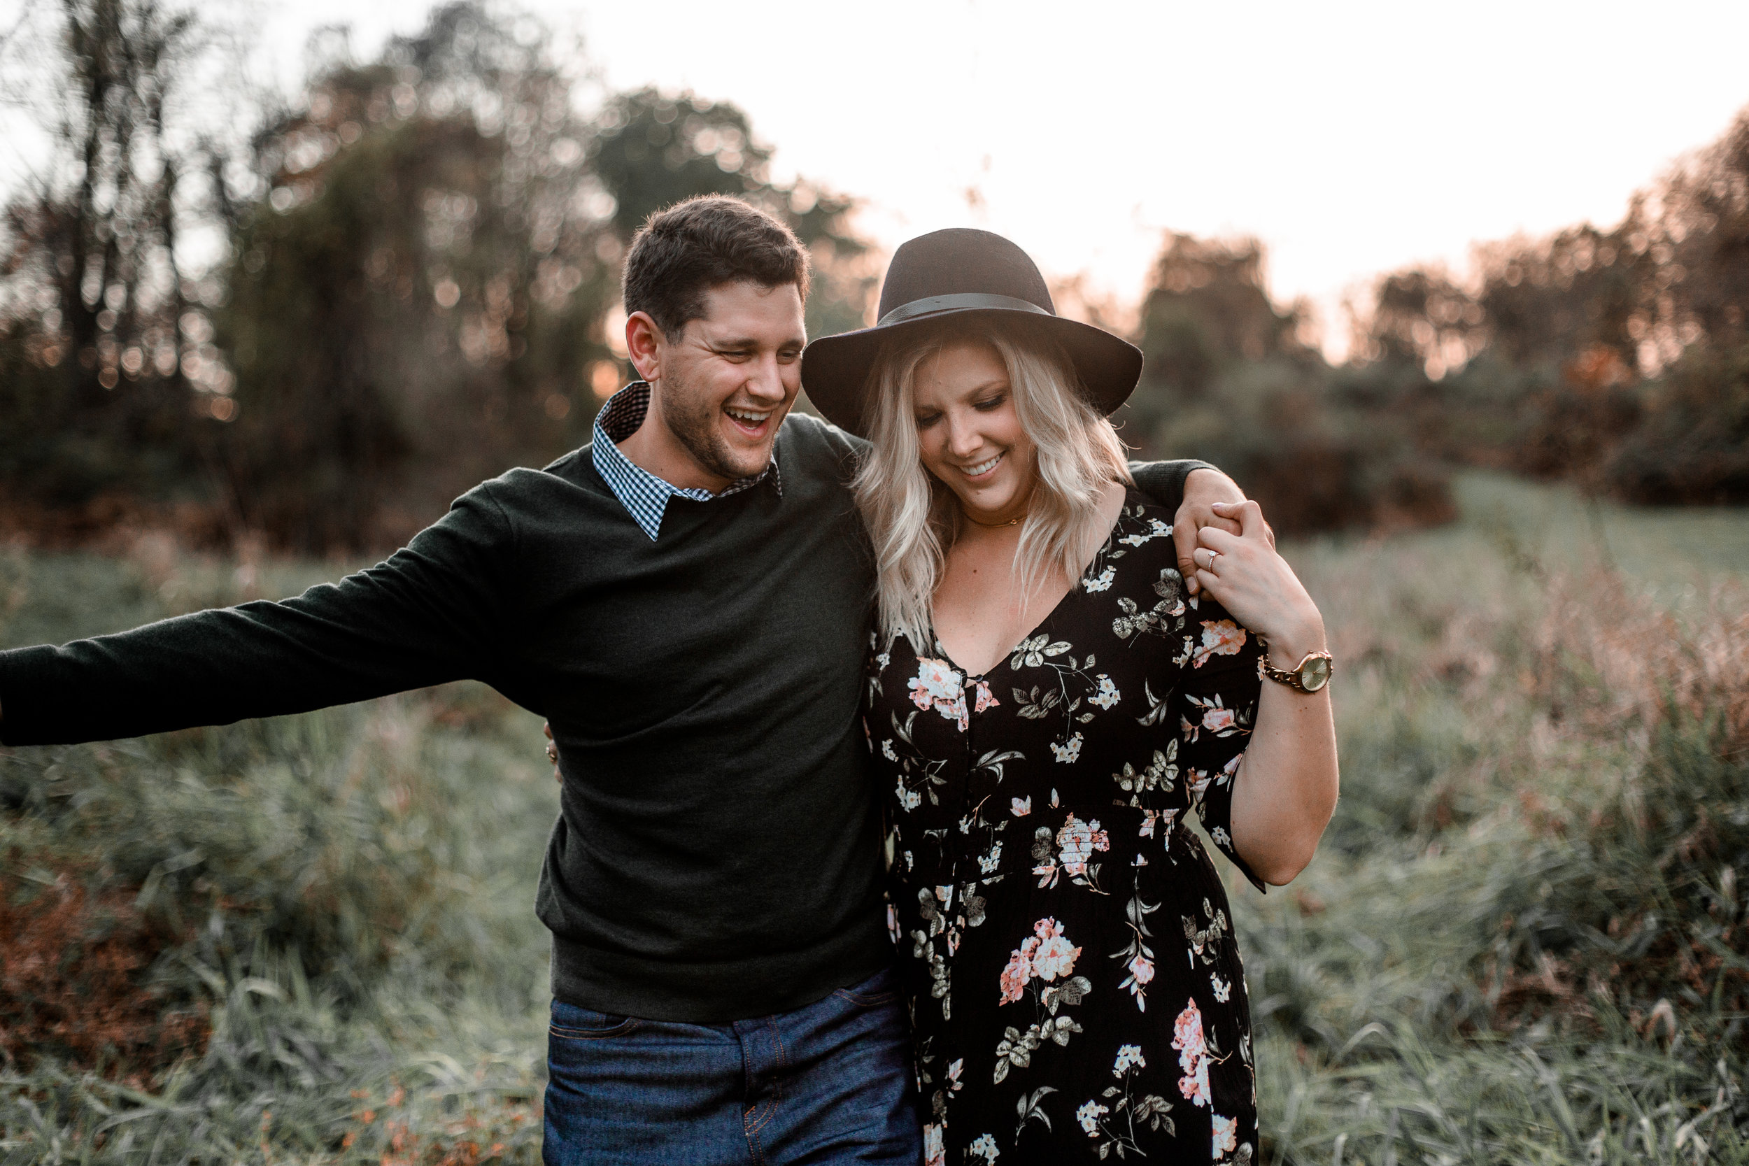
[{"label": "large round blurred tree above the man's outstretched arm", "polygon": [[619,250],[546,40],[474,3],[318,63],[255,138],[219,341],[240,509],[308,551],[395,542],[579,444]]}]

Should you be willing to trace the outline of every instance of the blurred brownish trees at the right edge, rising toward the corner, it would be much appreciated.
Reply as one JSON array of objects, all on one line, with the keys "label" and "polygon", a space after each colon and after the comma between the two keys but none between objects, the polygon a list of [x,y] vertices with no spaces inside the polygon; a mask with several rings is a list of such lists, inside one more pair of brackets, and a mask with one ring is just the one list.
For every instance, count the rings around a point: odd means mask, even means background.
[{"label": "blurred brownish trees at the right edge, rising toward the corner", "polygon": [[1476,248],[1478,294],[1378,280],[1345,392],[1427,451],[1637,502],[1740,496],[1749,346],[1749,110],[1637,192],[1620,224]]}]

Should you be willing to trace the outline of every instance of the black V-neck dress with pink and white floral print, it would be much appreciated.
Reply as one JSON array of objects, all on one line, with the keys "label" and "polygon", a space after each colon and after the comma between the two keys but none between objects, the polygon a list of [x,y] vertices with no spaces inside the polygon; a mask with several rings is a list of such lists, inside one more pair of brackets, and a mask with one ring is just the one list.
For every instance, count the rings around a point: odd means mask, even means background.
[{"label": "black V-neck dress with pink and white floral print", "polygon": [[1244,970],[1214,864],[1259,694],[1254,636],[1189,598],[1130,491],[1077,586],[981,677],[876,638],[894,939],[925,1157],[1251,1163]]}]

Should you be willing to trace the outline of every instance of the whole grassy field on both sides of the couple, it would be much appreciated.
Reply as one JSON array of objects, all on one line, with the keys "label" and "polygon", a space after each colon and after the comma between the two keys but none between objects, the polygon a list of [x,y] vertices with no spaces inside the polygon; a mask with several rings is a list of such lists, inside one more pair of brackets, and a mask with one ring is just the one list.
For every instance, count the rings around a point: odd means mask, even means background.
[{"label": "whole grassy field on both sides of the couple", "polygon": [[[1749,512],[1499,477],[1287,549],[1343,799],[1233,885],[1272,1163],[1749,1163]],[[331,577],[0,551],[0,643]],[[0,752],[0,1163],[539,1161],[539,720],[476,685]]]}]

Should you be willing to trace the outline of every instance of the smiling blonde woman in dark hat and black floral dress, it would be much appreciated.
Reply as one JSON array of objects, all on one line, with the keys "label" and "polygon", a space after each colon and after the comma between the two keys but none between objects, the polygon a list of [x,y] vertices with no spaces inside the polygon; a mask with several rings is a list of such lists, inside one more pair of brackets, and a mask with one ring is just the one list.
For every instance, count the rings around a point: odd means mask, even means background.
[{"label": "smiling blonde woman in dark hat and black floral dress", "polygon": [[1329,656],[1256,503],[1203,531],[1188,594],[1105,420],[1139,369],[983,231],[906,243],[881,322],[803,358],[874,442],[864,725],[930,1163],[1258,1152],[1231,913],[1186,818],[1259,890],[1305,867]]}]

